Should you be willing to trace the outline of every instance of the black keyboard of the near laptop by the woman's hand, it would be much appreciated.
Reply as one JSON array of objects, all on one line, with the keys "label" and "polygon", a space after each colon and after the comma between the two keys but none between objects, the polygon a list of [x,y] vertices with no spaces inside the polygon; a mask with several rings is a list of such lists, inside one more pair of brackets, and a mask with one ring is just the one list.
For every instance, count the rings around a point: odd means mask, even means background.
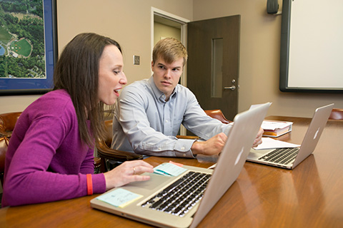
[{"label": "black keyboard of the near laptop by the woman's hand", "polygon": [[147,200],[141,207],[183,217],[204,195],[210,174],[188,172],[182,178]]}]

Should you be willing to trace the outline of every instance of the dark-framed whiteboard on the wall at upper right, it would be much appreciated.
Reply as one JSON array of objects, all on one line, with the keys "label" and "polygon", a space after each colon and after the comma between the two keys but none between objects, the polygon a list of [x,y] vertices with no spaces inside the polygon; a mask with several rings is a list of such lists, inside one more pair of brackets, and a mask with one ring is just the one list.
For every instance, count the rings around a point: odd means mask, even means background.
[{"label": "dark-framed whiteboard on the wall at upper right", "polygon": [[284,0],[280,90],[343,93],[343,1]]}]

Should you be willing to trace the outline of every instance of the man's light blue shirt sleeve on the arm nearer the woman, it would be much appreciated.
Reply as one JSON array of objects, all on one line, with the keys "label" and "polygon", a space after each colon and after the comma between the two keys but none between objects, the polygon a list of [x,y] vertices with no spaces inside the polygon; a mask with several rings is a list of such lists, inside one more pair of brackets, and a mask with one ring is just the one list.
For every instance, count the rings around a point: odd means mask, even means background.
[{"label": "man's light blue shirt sleeve on the arm nearer the woman", "polygon": [[195,140],[177,139],[151,128],[146,115],[149,102],[151,100],[133,90],[121,92],[116,119],[134,152],[161,157],[194,157],[191,147]]}]

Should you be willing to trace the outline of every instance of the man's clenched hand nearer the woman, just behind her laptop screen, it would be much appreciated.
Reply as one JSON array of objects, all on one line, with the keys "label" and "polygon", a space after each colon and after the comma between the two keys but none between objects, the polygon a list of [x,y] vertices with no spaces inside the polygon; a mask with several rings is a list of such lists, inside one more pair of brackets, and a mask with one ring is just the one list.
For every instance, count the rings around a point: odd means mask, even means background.
[{"label": "man's clenched hand nearer the woman, just behind her laptop screen", "polygon": [[218,135],[214,135],[207,141],[204,142],[194,142],[191,150],[193,155],[217,155],[219,152],[222,152],[222,149],[227,142],[227,135],[224,133],[219,133]]}]

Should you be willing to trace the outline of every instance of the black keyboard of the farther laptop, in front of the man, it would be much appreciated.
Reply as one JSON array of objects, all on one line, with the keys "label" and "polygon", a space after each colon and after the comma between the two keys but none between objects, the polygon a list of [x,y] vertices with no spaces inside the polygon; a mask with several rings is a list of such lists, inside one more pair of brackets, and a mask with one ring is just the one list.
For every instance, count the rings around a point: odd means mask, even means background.
[{"label": "black keyboard of the farther laptop, in front of the man", "polygon": [[298,147],[278,148],[267,153],[267,155],[264,155],[263,157],[259,157],[259,160],[287,165],[289,162],[292,162],[295,157],[297,157],[298,152]]}]

